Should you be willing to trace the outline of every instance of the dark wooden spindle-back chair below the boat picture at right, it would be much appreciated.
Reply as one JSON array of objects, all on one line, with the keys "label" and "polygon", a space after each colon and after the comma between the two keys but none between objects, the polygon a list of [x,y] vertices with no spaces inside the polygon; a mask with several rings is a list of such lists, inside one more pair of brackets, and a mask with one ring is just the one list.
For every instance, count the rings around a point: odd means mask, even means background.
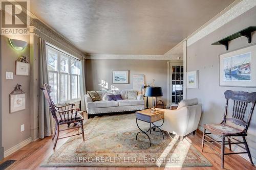
[{"label": "dark wooden spindle-back chair below the boat picture at right", "polygon": [[[239,91],[231,91],[227,90],[225,91],[225,99],[226,99],[226,106],[225,106],[225,112],[223,120],[220,124],[206,124],[204,125],[204,131],[203,131],[203,138],[202,138],[202,152],[204,150],[204,145],[207,145],[211,150],[214,150],[217,152],[214,148],[216,147],[221,150],[221,167],[224,167],[224,155],[230,155],[230,154],[248,154],[251,164],[253,165],[251,154],[249,151],[248,144],[246,142],[245,136],[247,136],[247,130],[250,125],[251,116],[254,110],[254,106],[256,103],[256,92],[239,92]],[[228,102],[229,100],[233,101],[233,107],[232,107],[232,117],[227,117],[228,113]],[[251,103],[250,109],[247,109],[248,104]],[[245,118],[246,113],[248,113],[247,119]],[[245,120],[246,119],[246,120]],[[207,130],[207,132],[206,132]],[[217,135],[221,137],[221,141],[215,140],[213,137],[209,135]],[[205,137],[207,139],[205,139]],[[240,141],[233,137],[242,137],[243,141]],[[227,138],[227,141],[225,141],[225,138]],[[231,141],[234,140],[233,141]],[[208,145],[210,144],[210,145]],[[217,147],[217,145],[221,145],[221,148]],[[225,153],[225,145],[229,145],[229,150],[231,151],[231,144],[237,144],[239,147],[246,150],[246,152],[230,152]],[[245,148],[240,146],[239,144],[244,144]]]}]

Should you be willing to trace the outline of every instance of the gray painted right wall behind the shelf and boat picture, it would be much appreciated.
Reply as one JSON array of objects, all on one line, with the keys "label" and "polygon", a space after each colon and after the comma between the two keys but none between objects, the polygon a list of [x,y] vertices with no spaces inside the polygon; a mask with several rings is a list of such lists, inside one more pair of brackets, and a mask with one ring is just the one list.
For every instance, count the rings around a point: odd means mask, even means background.
[{"label": "gray painted right wall behind the shelf and boat picture", "polygon": [[[227,51],[224,45],[211,45],[211,43],[246,27],[256,26],[255,18],[256,7],[187,47],[187,71],[199,70],[199,89],[187,89],[187,98],[198,98],[200,103],[203,104],[200,126],[207,123],[221,122],[224,115],[225,90],[256,91],[256,88],[219,86],[218,58],[220,54]],[[253,33],[252,43],[256,43],[256,32]],[[249,45],[247,38],[240,37],[229,42],[229,51],[247,45]],[[256,110],[252,116],[246,139],[254,157],[254,163],[256,163]]]}]

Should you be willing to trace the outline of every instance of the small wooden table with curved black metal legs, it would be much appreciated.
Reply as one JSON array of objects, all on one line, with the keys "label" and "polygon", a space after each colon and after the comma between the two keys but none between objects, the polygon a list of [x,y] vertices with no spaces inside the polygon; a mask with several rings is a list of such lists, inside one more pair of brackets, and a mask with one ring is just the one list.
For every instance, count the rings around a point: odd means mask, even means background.
[{"label": "small wooden table with curved black metal legs", "polygon": [[[153,131],[155,131],[156,128],[159,129],[160,132],[163,135],[163,132],[160,129],[160,127],[164,123],[164,111],[157,110],[157,113],[151,113],[151,109],[146,109],[146,110],[137,111],[135,113],[136,113],[136,124],[137,124],[137,126],[140,130],[140,132],[138,132],[137,135],[136,135],[136,140],[137,140],[137,136],[138,136],[139,133],[146,134],[148,139],[150,139],[150,136],[148,136],[147,132],[150,131],[150,134],[151,134],[151,130],[153,129]],[[141,130],[139,125],[138,125],[138,120],[149,123],[150,124],[150,129],[148,129],[146,131]],[[157,122],[158,120],[163,120],[162,125],[157,126],[157,125],[154,124],[154,122]],[[153,125],[152,127],[151,127],[151,124]],[[164,135],[163,135],[163,139],[164,139]],[[151,140],[150,140],[150,146],[151,146]]]}]

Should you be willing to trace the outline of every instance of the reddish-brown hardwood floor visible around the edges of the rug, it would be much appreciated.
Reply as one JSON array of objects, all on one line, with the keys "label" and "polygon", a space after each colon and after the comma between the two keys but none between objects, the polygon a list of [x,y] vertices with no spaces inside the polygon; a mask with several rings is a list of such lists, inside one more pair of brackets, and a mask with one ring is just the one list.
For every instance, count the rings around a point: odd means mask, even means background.
[{"label": "reddish-brown hardwood floor visible around the edges of the rug", "polygon": [[[71,135],[73,133],[76,133],[77,130],[70,130],[70,131],[64,131],[60,133],[60,136],[64,135]],[[60,139],[57,142],[56,150],[65,143],[69,138]],[[196,149],[198,149],[201,152],[201,139],[202,139],[202,133],[201,131],[197,131],[196,135],[189,135],[184,140],[188,140],[190,143],[194,145]],[[40,164],[44,162],[54,151],[53,151],[53,140],[52,137],[46,137],[45,139],[38,139],[34,142],[31,142],[26,147],[23,147],[22,149],[16,151],[12,155],[6,157],[4,160],[0,161],[0,163],[3,163],[6,160],[17,160],[14,162],[11,166],[9,166],[7,169],[88,169],[88,170],[97,170],[97,169],[110,169],[110,170],[116,170],[116,169],[165,169],[165,168],[144,168],[144,167],[130,167],[130,168],[118,168],[118,167],[40,167]],[[228,152],[228,150],[226,150]],[[201,152],[202,153],[202,152]],[[196,169],[221,169],[221,157],[214,153],[214,151],[211,151],[208,147],[205,147],[204,152],[202,153],[214,166],[212,167],[186,167],[186,168],[167,168],[167,169],[190,169],[190,170],[196,170]],[[224,163],[224,169],[256,169],[255,166],[252,166],[250,162],[243,159],[242,157],[238,155],[227,155],[225,156],[225,163]]]}]

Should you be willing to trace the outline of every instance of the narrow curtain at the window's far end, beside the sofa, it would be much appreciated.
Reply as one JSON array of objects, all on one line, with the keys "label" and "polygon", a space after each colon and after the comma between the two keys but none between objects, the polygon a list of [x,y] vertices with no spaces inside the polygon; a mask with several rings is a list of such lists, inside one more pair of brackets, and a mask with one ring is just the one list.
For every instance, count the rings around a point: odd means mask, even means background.
[{"label": "narrow curtain at the window's far end, beside the sofa", "polygon": [[81,96],[81,111],[86,111],[86,103],[84,101],[84,93],[86,93],[86,59],[83,56],[81,59],[81,69],[80,69],[80,96]]}]

